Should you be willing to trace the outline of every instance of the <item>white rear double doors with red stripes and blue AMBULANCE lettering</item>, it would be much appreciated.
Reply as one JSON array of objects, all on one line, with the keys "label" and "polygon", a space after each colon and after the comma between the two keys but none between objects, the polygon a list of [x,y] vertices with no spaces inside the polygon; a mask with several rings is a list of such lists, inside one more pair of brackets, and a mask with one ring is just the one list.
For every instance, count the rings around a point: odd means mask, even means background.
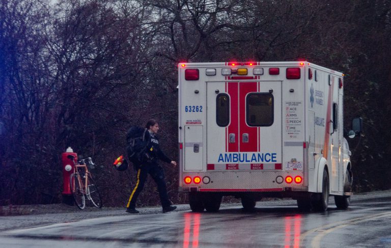
[{"label": "white rear double doors with red stripes and blue AMBULANCE lettering", "polygon": [[207,170],[282,169],[282,82],[207,82]]}]

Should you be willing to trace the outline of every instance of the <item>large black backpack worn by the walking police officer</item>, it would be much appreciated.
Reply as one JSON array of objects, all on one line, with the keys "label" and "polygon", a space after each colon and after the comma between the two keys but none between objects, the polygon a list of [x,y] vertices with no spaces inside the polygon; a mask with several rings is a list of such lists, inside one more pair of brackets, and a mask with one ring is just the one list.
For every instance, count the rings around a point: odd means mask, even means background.
[{"label": "large black backpack worn by the walking police officer", "polygon": [[144,162],[146,156],[148,156],[147,147],[150,141],[150,134],[147,129],[133,126],[128,130],[126,135],[126,150],[128,152],[129,161],[134,164],[135,167],[141,165]]}]

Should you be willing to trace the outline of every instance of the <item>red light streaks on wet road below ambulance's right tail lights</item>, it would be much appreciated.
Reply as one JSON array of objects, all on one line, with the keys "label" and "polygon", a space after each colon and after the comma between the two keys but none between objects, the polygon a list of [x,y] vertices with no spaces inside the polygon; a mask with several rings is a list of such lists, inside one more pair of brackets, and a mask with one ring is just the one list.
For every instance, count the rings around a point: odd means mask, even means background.
[{"label": "red light streaks on wet road below ambulance's right tail lights", "polygon": [[[293,233],[292,233],[293,225]],[[285,248],[299,248],[301,233],[301,214],[285,217]],[[293,240],[292,240],[293,236]]]}]

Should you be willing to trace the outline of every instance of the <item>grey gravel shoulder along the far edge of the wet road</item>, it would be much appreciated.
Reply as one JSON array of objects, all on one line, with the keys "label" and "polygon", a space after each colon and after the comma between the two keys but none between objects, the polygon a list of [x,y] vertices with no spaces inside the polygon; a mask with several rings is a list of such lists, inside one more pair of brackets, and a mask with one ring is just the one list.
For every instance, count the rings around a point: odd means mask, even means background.
[{"label": "grey gravel shoulder along the far edge of the wet road", "polygon": [[[352,204],[354,204],[355,200],[389,196],[390,193],[391,190],[355,194],[352,197]],[[330,205],[333,204],[333,197],[330,197],[329,203]],[[296,201],[292,199],[274,199],[257,202],[257,207],[271,205],[294,206],[296,205]],[[175,211],[190,211],[188,204],[179,204],[176,206],[178,208]],[[240,208],[242,206],[240,203],[231,203],[221,204],[221,207]],[[161,207],[145,207],[137,208],[137,210],[140,211],[139,214],[161,213]],[[85,209],[80,210],[76,206],[69,206],[66,204],[3,206],[2,211],[4,216],[0,216],[0,232],[56,223],[75,222],[105,216],[128,215],[128,213],[125,212],[124,207],[102,207],[100,209],[95,207],[86,207]]]}]

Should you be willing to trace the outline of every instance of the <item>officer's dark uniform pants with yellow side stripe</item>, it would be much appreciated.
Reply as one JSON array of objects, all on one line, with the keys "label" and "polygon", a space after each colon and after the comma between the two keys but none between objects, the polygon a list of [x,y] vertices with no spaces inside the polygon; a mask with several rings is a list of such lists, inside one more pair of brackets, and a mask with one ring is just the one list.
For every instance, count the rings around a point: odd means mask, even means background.
[{"label": "officer's dark uniform pants with yellow side stripe", "polygon": [[137,197],[144,188],[144,183],[147,180],[148,174],[152,176],[153,180],[155,180],[157,184],[157,190],[159,191],[159,197],[162,207],[167,207],[171,205],[169,196],[167,195],[163,168],[157,164],[146,164],[137,170],[136,185],[129,197],[128,204],[126,205],[127,208],[134,209],[136,207]]}]

